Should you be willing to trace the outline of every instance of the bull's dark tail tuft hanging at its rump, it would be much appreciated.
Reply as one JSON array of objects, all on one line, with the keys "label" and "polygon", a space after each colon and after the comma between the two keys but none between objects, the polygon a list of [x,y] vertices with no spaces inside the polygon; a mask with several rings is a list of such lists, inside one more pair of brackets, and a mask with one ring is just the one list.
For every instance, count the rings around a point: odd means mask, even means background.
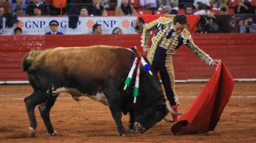
[{"label": "bull's dark tail tuft hanging at its rump", "polygon": [[27,53],[23,59],[22,59],[22,62],[21,62],[21,69],[23,71],[28,71],[35,56],[36,56],[36,53],[37,51],[30,51],[29,53]]}]

